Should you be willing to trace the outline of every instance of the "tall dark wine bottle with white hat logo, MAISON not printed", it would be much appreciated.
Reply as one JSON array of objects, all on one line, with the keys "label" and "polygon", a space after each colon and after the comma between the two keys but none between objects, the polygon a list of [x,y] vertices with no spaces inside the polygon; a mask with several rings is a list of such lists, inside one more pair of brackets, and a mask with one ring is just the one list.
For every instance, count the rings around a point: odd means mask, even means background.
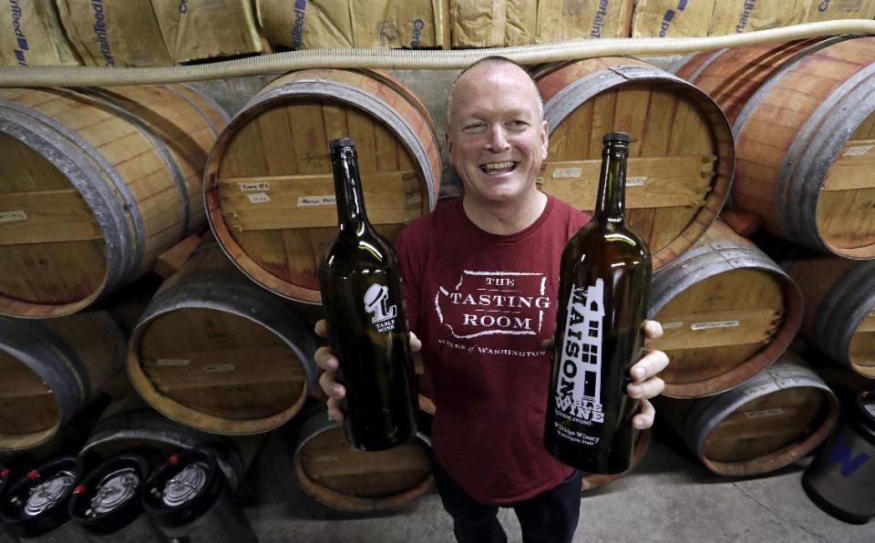
[{"label": "tall dark wine bottle with white hat logo, MAISON not printed", "polygon": [[329,148],[338,229],[319,282],[340,359],[338,382],[346,387],[346,436],[356,448],[384,450],[417,431],[401,275],[392,245],[367,220],[355,143],[340,138]]}]

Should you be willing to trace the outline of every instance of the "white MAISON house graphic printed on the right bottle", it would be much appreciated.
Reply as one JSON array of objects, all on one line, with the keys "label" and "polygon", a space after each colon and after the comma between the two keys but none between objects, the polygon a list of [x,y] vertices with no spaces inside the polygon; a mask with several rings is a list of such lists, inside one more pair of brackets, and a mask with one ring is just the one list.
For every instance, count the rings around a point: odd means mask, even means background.
[{"label": "white MAISON house graphic printed on the right bottle", "polygon": [[[604,282],[572,287],[565,315],[559,378],[556,383],[556,415],[581,425],[604,423],[602,408],[602,323]],[[557,428],[559,429],[559,428]],[[594,445],[598,435],[565,431],[567,440]]]}]

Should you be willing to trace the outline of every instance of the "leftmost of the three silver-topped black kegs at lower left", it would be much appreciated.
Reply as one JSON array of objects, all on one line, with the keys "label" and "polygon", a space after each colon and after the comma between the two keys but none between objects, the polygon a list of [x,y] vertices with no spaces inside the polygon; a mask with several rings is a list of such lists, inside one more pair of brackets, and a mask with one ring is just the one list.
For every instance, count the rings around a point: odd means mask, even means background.
[{"label": "leftmost of the three silver-topped black kegs at lower left", "polygon": [[0,520],[22,541],[87,543],[88,536],[70,522],[67,503],[82,475],[71,456],[32,470],[9,487],[0,502]]}]

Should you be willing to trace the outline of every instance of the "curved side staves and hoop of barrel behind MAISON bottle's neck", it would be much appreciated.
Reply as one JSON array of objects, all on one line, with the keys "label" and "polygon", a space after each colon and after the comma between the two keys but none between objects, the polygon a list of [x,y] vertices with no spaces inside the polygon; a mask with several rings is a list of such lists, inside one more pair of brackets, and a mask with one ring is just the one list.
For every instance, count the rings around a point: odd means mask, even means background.
[{"label": "curved side staves and hoop of barrel behind MAISON bottle's neck", "polygon": [[[705,108],[704,115],[710,121],[712,131],[718,132],[714,138],[715,154],[718,156],[718,164],[715,169],[716,179],[708,192],[705,205],[698,210],[690,225],[684,231],[678,232],[674,241],[654,253],[654,270],[673,261],[692,247],[713,223],[726,203],[736,168],[732,131],[726,116],[714,100],[680,77],[643,61],[625,57],[609,56],[542,67],[534,74],[534,77],[545,101],[544,118],[547,120],[551,133],[559,126],[562,119],[580,107],[586,100],[626,82],[660,81],[677,85],[682,93],[693,98],[696,107]],[[569,79],[572,77],[574,79],[571,85],[585,89],[583,99],[575,96],[571,105],[562,105],[561,102],[567,100],[571,94],[567,88],[569,87]],[[719,159],[720,157],[728,157],[728,159]]]}]

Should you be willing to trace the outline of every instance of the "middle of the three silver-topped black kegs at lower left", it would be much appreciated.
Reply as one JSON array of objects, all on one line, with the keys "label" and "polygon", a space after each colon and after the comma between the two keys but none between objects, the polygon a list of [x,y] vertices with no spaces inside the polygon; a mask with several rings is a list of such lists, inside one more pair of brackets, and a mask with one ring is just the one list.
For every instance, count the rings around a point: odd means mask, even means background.
[{"label": "middle of the three silver-topped black kegs at lower left", "polygon": [[142,456],[110,458],[82,479],[70,498],[69,513],[95,541],[139,543],[162,539],[143,514],[143,486],[149,466]]}]

